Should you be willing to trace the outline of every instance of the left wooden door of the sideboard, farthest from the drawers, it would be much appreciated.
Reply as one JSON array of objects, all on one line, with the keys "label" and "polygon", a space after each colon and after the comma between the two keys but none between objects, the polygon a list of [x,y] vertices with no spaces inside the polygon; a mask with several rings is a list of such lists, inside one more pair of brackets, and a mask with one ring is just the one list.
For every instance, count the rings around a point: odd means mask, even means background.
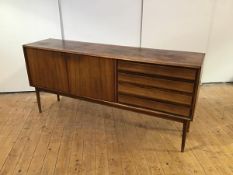
[{"label": "left wooden door of the sideboard, farthest from the drawers", "polygon": [[67,93],[68,80],[63,54],[26,48],[27,67],[32,86]]}]

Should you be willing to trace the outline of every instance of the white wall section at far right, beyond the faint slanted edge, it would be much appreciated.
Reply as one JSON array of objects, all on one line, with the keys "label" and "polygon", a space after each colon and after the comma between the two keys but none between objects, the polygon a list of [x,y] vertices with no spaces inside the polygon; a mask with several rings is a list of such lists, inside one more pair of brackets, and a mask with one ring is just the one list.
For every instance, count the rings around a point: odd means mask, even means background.
[{"label": "white wall section at far right, beyond the faint slanted edge", "polygon": [[216,1],[202,81],[233,82],[232,0]]}]

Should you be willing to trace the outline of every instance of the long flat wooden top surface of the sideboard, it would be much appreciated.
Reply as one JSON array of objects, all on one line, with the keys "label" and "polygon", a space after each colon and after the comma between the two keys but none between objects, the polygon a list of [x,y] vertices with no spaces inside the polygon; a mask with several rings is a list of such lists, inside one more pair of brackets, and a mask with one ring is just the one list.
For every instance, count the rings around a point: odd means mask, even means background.
[{"label": "long flat wooden top surface of the sideboard", "polygon": [[59,39],[46,39],[31,44],[25,44],[24,46],[66,53],[188,68],[200,68],[205,56],[204,53],[196,52],[158,50],[68,40],[62,41]]}]

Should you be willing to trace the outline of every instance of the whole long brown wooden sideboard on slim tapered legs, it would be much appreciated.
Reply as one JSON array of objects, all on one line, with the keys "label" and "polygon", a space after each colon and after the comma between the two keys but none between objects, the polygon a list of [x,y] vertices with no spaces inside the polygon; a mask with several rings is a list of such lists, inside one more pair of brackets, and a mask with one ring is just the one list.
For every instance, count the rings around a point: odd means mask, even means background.
[{"label": "whole long brown wooden sideboard on slim tapered legs", "polygon": [[183,124],[193,120],[203,53],[47,39],[23,45],[30,85]]}]

